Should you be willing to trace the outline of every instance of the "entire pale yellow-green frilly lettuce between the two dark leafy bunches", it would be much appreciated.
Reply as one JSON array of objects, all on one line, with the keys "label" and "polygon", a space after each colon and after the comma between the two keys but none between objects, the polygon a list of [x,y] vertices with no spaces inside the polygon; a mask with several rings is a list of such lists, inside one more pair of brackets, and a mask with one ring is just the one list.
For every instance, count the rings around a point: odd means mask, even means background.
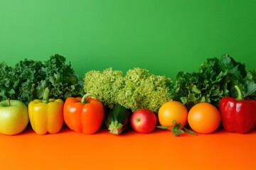
[{"label": "entire pale yellow-green frilly lettuce between the two dark leafy bunches", "polygon": [[156,112],[163,103],[171,100],[171,86],[171,79],[150,74],[146,69],[129,69],[124,76],[122,71],[108,68],[102,72],[87,72],[84,91],[96,94],[108,108],[119,103],[132,111],[148,108]]}]

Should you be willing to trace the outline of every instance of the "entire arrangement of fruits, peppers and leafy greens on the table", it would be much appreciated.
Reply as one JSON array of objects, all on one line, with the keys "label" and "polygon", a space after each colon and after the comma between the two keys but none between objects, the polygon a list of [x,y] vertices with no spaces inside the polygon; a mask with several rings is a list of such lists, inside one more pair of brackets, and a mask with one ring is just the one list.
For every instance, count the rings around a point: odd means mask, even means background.
[{"label": "entire arrangement of fruits, peppers and leafy greens on the table", "polygon": [[114,135],[159,128],[175,136],[208,134],[220,125],[247,133],[256,125],[256,69],[247,72],[229,55],[209,58],[198,72],[178,72],[175,81],[142,68],[90,70],[81,79],[60,55],[0,68],[4,135],[28,123],[38,135],[58,133],[64,124],[88,135],[104,125]]}]

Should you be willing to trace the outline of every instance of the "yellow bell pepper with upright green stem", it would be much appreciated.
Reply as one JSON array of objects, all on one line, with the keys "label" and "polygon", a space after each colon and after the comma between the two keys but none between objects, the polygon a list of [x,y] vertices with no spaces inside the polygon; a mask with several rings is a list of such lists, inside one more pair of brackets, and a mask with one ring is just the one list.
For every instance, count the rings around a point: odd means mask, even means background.
[{"label": "yellow bell pepper with upright green stem", "polygon": [[45,89],[43,100],[35,99],[28,103],[28,115],[33,130],[38,135],[58,133],[63,127],[62,99],[48,98],[50,90]]}]

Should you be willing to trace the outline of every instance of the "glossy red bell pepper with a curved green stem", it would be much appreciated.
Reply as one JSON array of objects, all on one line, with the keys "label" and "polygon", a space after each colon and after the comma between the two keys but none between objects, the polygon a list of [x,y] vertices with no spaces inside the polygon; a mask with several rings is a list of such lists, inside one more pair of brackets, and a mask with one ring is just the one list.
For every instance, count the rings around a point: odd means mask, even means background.
[{"label": "glossy red bell pepper with a curved green stem", "polygon": [[244,98],[238,86],[237,98],[220,99],[220,114],[223,128],[228,132],[246,133],[256,125],[256,101]]}]

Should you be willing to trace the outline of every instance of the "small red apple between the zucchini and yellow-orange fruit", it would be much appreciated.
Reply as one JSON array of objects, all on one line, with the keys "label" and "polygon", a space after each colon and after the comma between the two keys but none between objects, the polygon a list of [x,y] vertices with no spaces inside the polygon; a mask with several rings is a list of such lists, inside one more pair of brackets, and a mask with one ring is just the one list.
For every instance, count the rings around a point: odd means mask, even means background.
[{"label": "small red apple between the zucchini and yellow-orange fruit", "polygon": [[132,114],[131,125],[136,132],[152,132],[156,128],[156,114],[147,108],[141,108]]}]

